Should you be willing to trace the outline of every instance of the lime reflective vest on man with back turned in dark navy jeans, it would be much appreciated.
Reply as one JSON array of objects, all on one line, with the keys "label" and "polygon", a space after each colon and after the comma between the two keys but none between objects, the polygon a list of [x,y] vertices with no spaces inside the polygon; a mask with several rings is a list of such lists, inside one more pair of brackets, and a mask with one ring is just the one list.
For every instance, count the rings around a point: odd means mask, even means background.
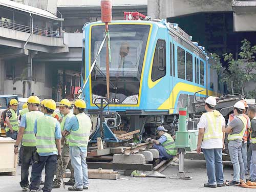
[{"label": "lime reflective vest on man with back turned in dark navy jeans", "polygon": [[44,115],[36,120],[36,151],[37,153],[57,152],[55,141],[55,127],[57,119],[52,116]]}]

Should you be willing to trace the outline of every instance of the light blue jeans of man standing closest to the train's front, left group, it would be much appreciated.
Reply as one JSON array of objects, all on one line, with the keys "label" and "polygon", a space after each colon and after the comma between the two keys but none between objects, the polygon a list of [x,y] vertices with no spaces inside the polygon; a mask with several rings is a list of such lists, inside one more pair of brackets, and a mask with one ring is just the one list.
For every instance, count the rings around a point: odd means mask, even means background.
[{"label": "light blue jeans of man standing closest to the train's front, left group", "polygon": [[70,147],[71,165],[74,168],[75,187],[83,188],[89,186],[88,167],[86,163],[87,152],[81,152],[79,147]]}]

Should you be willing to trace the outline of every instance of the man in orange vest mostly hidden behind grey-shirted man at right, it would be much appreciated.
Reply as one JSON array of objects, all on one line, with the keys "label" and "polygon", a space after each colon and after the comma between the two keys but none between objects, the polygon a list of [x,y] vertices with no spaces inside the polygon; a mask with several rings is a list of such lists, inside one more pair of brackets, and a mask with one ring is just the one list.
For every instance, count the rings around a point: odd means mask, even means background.
[{"label": "man in orange vest mostly hidden behind grey-shirted man at right", "polygon": [[[245,127],[245,133],[244,133],[244,136],[243,136],[243,145],[242,145],[242,157],[243,157],[243,162],[244,162],[244,169],[245,169],[245,175],[249,175],[249,170],[247,168],[247,138],[248,138],[248,129],[250,129],[250,118],[248,117],[248,115],[246,115],[246,110],[248,109],[248,105],[246,103],[246,101],[244,100],[241,100],[243,103],[244,103],[244,106],[245,106],[245,110],[243,111],[243,116],[246,118],[247,120],[247,124],[246,124],[246,127]],[[227,125],[229,125],[229,123],[234,119],[234,114],[230,114],[229,115],[229,118],[228,118],[228,122],[227,122]]]}]

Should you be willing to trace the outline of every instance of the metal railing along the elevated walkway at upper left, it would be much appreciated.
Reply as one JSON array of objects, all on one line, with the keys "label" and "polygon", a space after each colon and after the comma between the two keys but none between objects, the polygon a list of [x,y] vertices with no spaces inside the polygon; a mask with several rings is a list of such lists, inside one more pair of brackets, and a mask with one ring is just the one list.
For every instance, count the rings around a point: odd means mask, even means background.
[{"label": "metal railing along the elevated walkway at upper left", "polygon": [[[26,33],[31,33],[32,29],[30,26],[25,26],[25,25],[20,25],[12,22],[8,22],[7,20],[3,21],[0,20],[0,27],[4,27],[7,29],[12,29],[16,31],[22,31]],[[52,31],[48,29],[39,29],[33,27],[33,34],[35,35],[40,35],[40,36],[46,36],[46,37],[62,37],[62,32],[60,31]]]}]

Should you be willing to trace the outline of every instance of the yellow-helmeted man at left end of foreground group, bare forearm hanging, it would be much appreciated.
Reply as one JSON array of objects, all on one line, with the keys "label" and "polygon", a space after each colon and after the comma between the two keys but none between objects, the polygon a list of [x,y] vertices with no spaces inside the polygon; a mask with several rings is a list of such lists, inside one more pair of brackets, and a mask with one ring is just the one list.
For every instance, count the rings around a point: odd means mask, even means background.
[{"label": "yellow-helmeted man at left end of foreground group, bare forearm hanging", "polygon": [[14,145],[14,153],[18,153],[18,145],[22,142],[22,170],[20,186],[23,191],[29,189],[29,166],[31,160],[36,161],[36,137],[34,134],[34,124],[38,117],[44,116],[44,113],[39,112],[40,99],[37,96],[30,96],[28,98],[28,110],[23,114],[19,124],[19,131],[16,143]]}]

